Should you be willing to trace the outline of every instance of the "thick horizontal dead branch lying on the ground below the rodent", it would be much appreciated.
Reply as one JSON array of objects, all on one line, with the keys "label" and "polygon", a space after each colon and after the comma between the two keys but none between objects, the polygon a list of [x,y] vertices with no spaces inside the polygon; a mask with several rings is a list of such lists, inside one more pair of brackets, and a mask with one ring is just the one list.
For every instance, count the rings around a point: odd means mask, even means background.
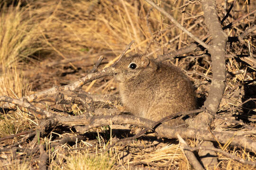
[{"label": "thick horizontal dead branch lying on the ground below the rodent", "polygon": [[[77,126],[84,125],[82,131],[78,131],[81,134],[84,134],[87,130],[94,127],[101,127],[106,125],[119,125],[119,124],[131,124],[139,127],[148,127],[155,122],[149,119],[140,118],[130,115],[114,115],[114,116],[94,116],[94,117],[64,117],[64,116],[55,116],[49,121],[51,124],[61,124],[66,126]],[[151,128],[151,127],[149,127]],[[256,151],[256,141],[249,139],[244,136],[236,136],[234,133],[229,132],[216,132],[203,129],[194,129],[194,128],[183,128],[183,127],[169,127],[167,125],[159,125],[155,128],[155,132],[160,137],[166,138],[176,138],[176,133],[179,133],[182,138],[196,138],[198,140],[204,141],[216,141],[219,143],[225,144],[231,140],[232,146],[241,146],[246,148],[251,152]]]}]

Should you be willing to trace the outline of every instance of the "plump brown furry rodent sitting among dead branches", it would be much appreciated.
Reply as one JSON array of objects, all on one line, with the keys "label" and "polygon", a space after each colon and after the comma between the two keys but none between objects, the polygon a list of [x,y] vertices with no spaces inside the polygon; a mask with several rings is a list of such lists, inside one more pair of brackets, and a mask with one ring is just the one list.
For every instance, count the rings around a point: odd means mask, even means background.
[{"label": "plump brown furry rodent sitting among dead branches", "polygon": [[[114,68],[121,101],[135,116],[158,121],[197,107],[191,81],[173,65],[135,54],[121,58]],[[179,125],[181,121],[171,120],[167,124]]]}]

